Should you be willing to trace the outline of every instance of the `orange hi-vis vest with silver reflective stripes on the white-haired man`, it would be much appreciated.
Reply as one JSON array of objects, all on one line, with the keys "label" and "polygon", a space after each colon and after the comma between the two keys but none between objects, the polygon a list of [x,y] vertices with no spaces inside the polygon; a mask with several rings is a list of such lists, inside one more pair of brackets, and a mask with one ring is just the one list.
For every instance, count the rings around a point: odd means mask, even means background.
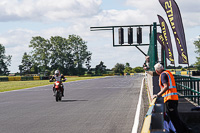
[{"label": "orange hi-vis vest with silver reflective stripes on the white-haired man", "polygon": [[[178,94],[177,94],[177,90],[176,90],[176,83],[174,80],[174,76],[172,75],[172,73],[169,70],[163,71],[162,73],[167,74],[168,85],[169,85],[169,89],[165,93],[162,94],[162,97],[164,97],[164,103],[168,100],[178,100]],[[162,90],[164,88],[164,86],[161,84],[161,74],[159,77],[159,86],[160,86],[160,89]]]}]

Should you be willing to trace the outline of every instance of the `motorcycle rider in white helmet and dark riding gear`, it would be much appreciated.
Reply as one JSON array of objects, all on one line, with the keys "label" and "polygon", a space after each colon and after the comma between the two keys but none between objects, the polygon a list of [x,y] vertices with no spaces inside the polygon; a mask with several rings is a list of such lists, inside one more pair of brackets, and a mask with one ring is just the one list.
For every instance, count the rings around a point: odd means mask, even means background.
[{"label": "motorcycle rider in white helmet and dark riding gear", "polygon": [[[62,84],[62,79],[64,81],[67,80],[67,78],[65,78],[62,74],[60,75],[60,71],[59,70],[56,70],[55,71],[55,75],[50,79],[50,80],[53,80],[55,79],[55,81],[59,81],[60,84],[61,84],[61,91],[62,91],[62,96],[64,97],[64,85]],[[53,92],[55,93],[55,85],[53,86]]]}]

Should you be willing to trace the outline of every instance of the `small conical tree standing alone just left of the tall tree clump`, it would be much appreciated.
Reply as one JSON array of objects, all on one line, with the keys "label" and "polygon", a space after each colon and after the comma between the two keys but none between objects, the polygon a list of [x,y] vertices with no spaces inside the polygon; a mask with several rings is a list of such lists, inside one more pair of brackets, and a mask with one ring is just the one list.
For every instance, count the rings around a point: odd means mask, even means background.
[{"label": "small conical tree standing alone just left of the tall tree clump", "polygon": [[19,66],[20,73],[30,73],[32,68],[31,56],[26,52],[22,57],[22,65]]}]

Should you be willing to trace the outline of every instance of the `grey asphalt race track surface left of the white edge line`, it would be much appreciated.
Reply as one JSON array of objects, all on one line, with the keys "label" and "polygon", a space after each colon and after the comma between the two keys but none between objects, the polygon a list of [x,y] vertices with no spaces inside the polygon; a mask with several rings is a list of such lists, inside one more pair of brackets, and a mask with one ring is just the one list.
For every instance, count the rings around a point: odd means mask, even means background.
[{"label": "grey asphalt race track surface left of the white edge line", "polygon": [[0,133],[131,133],[143,76],[65,83],[0,93]]}]

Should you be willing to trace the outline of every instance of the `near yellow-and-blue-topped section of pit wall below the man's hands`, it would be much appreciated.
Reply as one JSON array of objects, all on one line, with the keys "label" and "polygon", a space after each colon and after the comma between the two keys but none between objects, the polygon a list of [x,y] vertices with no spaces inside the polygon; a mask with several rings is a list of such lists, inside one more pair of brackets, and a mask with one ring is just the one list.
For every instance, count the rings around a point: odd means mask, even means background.
[{"label": "near yellow-and-blue-topped section of pit wall below the man's hands", "polygon": [[164,130],[164,112],[163,98],[153,99],[145,116],[141,133],[166,133]]}]

